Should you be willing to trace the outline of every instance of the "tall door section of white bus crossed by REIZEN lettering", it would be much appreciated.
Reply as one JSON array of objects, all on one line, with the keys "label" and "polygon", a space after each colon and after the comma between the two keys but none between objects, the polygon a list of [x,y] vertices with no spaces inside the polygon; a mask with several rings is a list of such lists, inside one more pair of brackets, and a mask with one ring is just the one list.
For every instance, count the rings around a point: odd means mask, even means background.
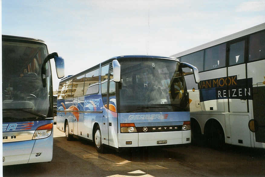
[{"label": "tall door section of white bus crossed by REIZEN lettering", "polygon": [[[229,123],[231,144],[251,146],[248,129],[249,109],[247,95],[250,93],[246,79],[246,37],[233,40],[227,44],[227,96],[229,105]],[[235,115],[236,113],[240,113]],[[245,115],[241,114],[245,113]]]}]

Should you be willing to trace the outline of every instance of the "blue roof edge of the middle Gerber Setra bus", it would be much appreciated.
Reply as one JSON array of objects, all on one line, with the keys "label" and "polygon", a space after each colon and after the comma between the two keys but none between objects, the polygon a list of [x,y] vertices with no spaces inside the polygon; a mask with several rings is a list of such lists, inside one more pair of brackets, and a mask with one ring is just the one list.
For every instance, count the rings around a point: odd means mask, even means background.
[{"label": "blue roof edge of the middle Gerber Setra bus", "polygon": [[[175,61],[178,61],[178,62],[179,62],[178,59],[173,58],[173,57],[168,57],[168,56],[152,56],[152,55],[121,55],[121,56],[115,56],[115,57],[112,57],[112,58],[110,58],[110,59],[108,59],[108,60],[106,60],[106,61],[101,62],[101,65],[105,65],[105,64],[107,64],[107,63],[110,63],[112,60],[115,60],[115,59],[121,59],[121,58],[128,58],[128,59],[129,59],[129,58],[159,58],[159,59],[175,60]],[[72,75],[72,76],[70,76],[70,77],[67,76],[67,77],[61,79],[60,83],[61,83],[61,82],[64,82],[64,81],[67,81],[67,80],[70,80],[70,79],[74,79],[74,78],[77,77],[77,76],[81,76],[81,75],[87,73],[88,71],[91,71],[91,70],[93,70],[93,69],[97,69],[99,66],[100,66],[100,64],[97,64],[96,66],[93,66],[93,67],[91,67],[91,68],[89,68],[89,69],[87,69],[87,70],[85,70],[85,71],[82,71],[82,72],[80,72],[80,73],[78,73],[78,74]]]}]

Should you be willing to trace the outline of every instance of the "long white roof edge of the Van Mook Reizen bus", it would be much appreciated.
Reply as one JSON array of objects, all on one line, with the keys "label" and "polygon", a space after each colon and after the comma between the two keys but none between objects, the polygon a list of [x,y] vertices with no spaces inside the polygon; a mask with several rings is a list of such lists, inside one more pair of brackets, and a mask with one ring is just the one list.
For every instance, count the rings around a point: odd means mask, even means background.
[{"label": "long white roof edge of the Van Mook Reizen bus", "polygon": [[176,53],[176,54],[172,55],[171,57],[178,58],[180,56],[184,56],[184,55],[187,55],[187,54],[190,54],[190,53],[193,53],[193,52],[197,52],[199,50],[206,49],[208,47],[212,47],[212,46],[227,42],[229,40],[233,40],[233,39],[236,39],[236,38],[239,38],[239,37],[243,37],[243,36],[246,36],[248,34],[252,34],[252,33],[264,30],[264,29],[265,29],[265,23],[262,23],[262,24],[259,24],[257,26],[248,28],[246,30],[239,31],[237,33],[222,37],[222,38],[217,39],[217,40],[213,40],[211,42],[202,44],[202,45],[197,46],[197,47],[193,47],[193,48],[191,48],[189,50],[185,50],[183,52]]}]

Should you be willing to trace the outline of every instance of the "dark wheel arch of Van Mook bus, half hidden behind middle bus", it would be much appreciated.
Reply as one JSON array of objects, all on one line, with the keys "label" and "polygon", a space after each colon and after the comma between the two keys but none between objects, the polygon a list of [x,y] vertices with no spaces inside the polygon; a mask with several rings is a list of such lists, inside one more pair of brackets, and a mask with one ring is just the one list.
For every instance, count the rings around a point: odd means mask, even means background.
[{"label": "dark wheel arch of Van Mook bus, half hidden behind middle bus", "polygon": [[194,117],[191,117],[191,143],[195,145],[201,143],[201,126]]}]

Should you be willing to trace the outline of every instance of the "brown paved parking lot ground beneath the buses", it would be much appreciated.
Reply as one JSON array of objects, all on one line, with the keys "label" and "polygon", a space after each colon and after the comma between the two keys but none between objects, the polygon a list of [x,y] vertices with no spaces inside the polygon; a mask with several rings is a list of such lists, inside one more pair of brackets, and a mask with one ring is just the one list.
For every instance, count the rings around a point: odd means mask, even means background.
[{"label": "brown paved parking lot ground beneath the buses", "polygon": [[149,147],[97,153],[93,143],[54,137],[50,163],[4,166],[4,176],[265,176],[265,151],[228,146]]}]

